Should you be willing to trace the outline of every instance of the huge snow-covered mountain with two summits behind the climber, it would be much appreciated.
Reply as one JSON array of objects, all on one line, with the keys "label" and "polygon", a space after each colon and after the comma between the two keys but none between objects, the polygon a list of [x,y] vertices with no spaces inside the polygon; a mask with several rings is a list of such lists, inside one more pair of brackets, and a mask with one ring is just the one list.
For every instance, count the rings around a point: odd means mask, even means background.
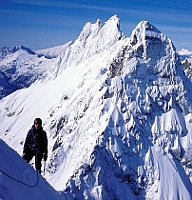
[{"label": "huge snow-covered mountain with two summits behind the climber", "polygon": [[1,138],[21,155],[41,117],[65,199],[192,199],[192,83],[172,41],[147,21],[125,37],[113,16],[66,45],[0,101]]}]

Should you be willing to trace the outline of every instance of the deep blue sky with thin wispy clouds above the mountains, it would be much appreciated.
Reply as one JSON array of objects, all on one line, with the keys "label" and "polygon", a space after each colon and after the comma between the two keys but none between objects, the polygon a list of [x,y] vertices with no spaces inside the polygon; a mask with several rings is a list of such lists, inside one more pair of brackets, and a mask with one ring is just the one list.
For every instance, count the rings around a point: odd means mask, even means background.
[{"label": "deep blue sky with thin wispy clouds above the mountains", "polygon": [[87,22],[115,14],[127,37],[147,20],[177,50],[192,51],[192,0],[0,0],[0,47],[59,46],[74,41]]}]

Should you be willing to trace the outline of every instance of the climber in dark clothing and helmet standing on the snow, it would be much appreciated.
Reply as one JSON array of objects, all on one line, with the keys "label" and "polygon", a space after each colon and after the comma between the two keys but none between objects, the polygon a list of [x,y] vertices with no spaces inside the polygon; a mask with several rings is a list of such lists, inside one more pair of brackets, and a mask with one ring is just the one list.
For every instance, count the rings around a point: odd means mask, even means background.
[{"label": "climber in dark clothing and helmet standing on the snow", "polygon": [[36,118],[32,128],[28,131],[24,148],[23,159],[28,163],[35,156],[35,168],[41,173],[41,161],[47,160],[47,134],[43,130],[42,120]]}]

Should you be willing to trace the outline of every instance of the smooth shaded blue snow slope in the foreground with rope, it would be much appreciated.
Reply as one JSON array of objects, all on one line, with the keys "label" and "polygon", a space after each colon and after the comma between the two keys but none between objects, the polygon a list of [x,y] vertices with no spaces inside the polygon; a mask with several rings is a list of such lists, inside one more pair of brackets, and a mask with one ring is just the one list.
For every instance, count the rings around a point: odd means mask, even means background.
[{"label": "smooth shaded blue snow slope in the foreground with rope", "polygon": [[0,199],[63,199],[15,151],[0,139]]}]

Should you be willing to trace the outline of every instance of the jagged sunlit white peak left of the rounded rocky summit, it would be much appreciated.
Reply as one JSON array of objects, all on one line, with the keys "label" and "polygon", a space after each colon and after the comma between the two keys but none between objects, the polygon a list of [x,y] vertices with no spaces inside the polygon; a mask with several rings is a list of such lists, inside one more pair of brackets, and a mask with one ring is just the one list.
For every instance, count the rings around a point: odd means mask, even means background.
[{"label": "jagged sunlit white peak left of the rounded rocky summit", "polygon": [[99,54],[120,40],[122,36],[119,18],[116,15],[107,22],[102,22],[100,19],[95,24],[88,22],[77,40],[63,55],[59,73],[69,66],[78,65],[85,59]]}]

